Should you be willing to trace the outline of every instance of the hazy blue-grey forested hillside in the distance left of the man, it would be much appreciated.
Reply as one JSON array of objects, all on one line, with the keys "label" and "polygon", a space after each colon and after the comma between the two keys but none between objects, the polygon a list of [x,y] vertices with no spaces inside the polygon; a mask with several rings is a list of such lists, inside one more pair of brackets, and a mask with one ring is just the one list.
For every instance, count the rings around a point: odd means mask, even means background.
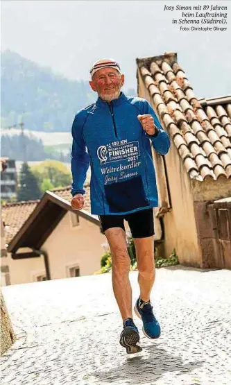
[{"label": "hazy blue-grey forested hillside in the distance left of the man", "polygon": [[12,51],[1,53],[1,128],[23,114],[28,130],[69,131],[74,114],[95,99],[87,81],[57,76]]}]

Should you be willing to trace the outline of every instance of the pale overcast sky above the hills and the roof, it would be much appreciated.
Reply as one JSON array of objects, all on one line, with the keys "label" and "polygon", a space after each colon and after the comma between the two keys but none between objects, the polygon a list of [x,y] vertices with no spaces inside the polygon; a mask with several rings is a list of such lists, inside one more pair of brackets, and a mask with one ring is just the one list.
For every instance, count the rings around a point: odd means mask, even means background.
[{"label": "pale overcast sky above the hills and the roof", "polygon": [[[228,6],[228,31],[185,32],[167,6]],[[99,58],[114,58],[136,89],[135,59],[176,51],[198,97],[231,94],[231,1],[1,1],[1,50],[55,73],[89,80]],[[223,11],[224,12],[224,11]]]}]

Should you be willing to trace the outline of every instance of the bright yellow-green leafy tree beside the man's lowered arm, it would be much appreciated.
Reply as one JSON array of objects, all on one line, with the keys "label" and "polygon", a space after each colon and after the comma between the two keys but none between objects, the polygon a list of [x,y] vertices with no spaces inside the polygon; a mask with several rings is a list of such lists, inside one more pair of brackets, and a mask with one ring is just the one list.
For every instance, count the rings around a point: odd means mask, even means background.
[{"label": "bright yellow-green leafy tree beside the man's lowered arm", "polygon": [[49,180],[53,187],[65,187],[71,184],[69,169],[58,160],[44,160],[44,162],[31,167],[31,170],[36,178],[40,180],[41,189],[45,179]]}]

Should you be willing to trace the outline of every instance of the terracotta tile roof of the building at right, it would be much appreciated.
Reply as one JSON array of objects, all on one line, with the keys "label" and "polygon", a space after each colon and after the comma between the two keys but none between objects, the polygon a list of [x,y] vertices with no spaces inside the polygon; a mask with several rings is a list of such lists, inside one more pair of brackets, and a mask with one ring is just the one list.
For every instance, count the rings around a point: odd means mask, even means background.
[{"label": "terracotta tile roof of the building at right", "polygon": [[231,96],[197,99],[176,53],[137,59],[137,66],[190,178],[230,178]]}]

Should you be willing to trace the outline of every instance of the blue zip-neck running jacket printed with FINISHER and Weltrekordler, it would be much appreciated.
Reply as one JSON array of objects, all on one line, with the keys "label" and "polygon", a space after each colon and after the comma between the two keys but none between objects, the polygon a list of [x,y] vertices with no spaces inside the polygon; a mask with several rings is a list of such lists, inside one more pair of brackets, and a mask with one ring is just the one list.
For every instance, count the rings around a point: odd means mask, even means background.
[{"label": "blue zip-neck running jacket printed with FINISHER and Weltrekordler", "polygon": [[[153,116],[157,135],[146,134],[139,114]],[[98,98],[77,112],[71,133],[71,194],[85,194],[90,165],[92,214],[122,215],[158,205],[151,142],[164,155],[170,140],[148,101],[123,92],[111,103]]]}]

